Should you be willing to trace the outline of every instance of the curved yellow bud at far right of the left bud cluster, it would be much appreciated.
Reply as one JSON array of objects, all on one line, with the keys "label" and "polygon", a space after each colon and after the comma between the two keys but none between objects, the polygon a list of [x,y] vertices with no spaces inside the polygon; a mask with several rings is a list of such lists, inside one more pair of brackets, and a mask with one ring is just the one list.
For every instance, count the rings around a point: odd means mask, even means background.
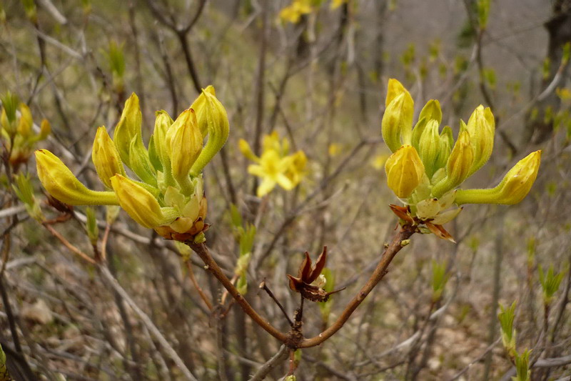
[{"label": "curved yellow bud at far right of the left bud cluster", "polygon": [[208,142],[206,142],[206,146],[204,146],[191,168],[191,176],[193,177],[197,177],[214,155],[222,149],[230,131],[228,114],[226,114],[226,109],[224,109],[221,102],[206,90],[203,91],[203,94],[206,97],[203,112],[205,113],[204,117],[208,126]]}]

